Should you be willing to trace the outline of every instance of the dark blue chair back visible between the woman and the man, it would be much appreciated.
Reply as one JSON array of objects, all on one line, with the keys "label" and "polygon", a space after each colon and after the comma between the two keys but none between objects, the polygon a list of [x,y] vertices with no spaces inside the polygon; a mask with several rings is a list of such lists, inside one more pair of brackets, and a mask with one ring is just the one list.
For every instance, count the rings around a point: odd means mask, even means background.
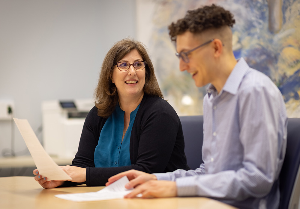
[{"label": "dark blue chair back visible between the woman and the man", "polygon": [[195,170],[202,161],[203,115],[180,116],[184,135],[184,152],[188,166]]}]

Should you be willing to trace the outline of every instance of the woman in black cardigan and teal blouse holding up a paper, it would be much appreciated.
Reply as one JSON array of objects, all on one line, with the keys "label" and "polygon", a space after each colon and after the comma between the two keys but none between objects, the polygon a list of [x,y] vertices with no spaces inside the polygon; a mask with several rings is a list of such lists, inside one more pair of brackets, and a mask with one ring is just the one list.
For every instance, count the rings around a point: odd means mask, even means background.
[{"label": "woman in black cardigan and teal blouse holding up a paper", "polygon": [[130,169],[189,169],[179,117],[162,99],[142,43],[126,38],[113,45],[104,58],[95,98],[72,165],[61,166],[72,182],[47,181],[34,170],[44,188],[104,186],[109,177]]}]

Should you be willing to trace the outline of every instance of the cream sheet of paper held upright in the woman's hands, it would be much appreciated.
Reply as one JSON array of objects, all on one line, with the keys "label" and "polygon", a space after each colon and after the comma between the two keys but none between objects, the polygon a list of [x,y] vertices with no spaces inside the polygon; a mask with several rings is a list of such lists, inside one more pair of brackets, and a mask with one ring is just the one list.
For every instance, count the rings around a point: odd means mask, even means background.
[{"label": "cream sheet of paper held upright in the woman's hands", "polygon": [[[39,174],[50,180],[72,180],[59,166],[53,161],[41,145],[35,132],[32,130],[26,119],[13,118],[21,135],[35,161]],[[59,146],[59,144],[57,145]]]}]

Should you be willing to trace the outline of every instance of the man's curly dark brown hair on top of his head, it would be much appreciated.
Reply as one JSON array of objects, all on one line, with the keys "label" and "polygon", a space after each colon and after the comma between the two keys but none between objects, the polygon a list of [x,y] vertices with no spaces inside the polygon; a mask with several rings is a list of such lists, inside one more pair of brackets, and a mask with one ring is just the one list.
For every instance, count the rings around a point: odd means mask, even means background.
[{"label": "man's curly dark brown hair on top of his head", "polygon": [[187,11],[184,18],[179,19],[177,23],[172,23],[168,29],[171,40],[176,41],[176,36],[186,31],[200,33],[211,28],[232,27],[234,23],[235,20],[230,11],[212,4]]}]

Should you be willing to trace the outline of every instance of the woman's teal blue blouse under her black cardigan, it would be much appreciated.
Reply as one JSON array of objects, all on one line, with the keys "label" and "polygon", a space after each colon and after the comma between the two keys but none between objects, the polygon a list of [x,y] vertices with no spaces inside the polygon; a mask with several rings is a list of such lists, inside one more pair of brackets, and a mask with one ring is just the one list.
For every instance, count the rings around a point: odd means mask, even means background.
[{"label": "woman's teal blue blouse under her black cardigan", "polygon": [[117,104],[113,114],[107,118],[100,132],[99,142],[94,153],[95,167],[108,168],[131,165],[129,143],[139,107],[140,105],[130,113],[129,126],[122,142],[125,112],[120,108],[119,103]]}]

